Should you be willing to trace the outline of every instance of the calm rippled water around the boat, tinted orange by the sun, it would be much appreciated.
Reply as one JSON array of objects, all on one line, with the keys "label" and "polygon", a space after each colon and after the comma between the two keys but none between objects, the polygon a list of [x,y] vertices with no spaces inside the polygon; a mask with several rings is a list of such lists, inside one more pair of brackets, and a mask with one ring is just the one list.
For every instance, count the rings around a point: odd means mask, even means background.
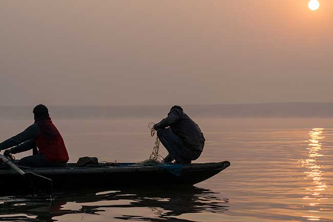
[{"label": "calm rippled water around the boat, tinted orange by the sun", "polygon": [[[71,162],[87,155],[138,162],[153,147],[151,120],[55,123]],[[78,188],[53,200],[3,196],[0,221],[333,221],[333,119],[196,121],[207,140],[196,162],[229,160],[232,165],[192,189]],[[29,123],[0,120],[0,139]]]}]

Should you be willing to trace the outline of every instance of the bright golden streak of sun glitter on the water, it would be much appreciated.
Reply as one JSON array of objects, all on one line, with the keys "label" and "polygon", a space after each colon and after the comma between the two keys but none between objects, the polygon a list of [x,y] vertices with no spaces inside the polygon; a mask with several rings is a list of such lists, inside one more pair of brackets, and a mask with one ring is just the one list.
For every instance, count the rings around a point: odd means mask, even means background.
[{"label": "bright golden streak of sun glitter on the water", "polygon": [[[312,214],[319,213],[320,201],[322,199],[327,199],[322,195],[322,192],[327,188],[324,182],[322,165],[318,163],[318,159],[323,156],[321,154],[322,144],[320,143],[324,139],[322,128],[312,129],[308,135],[308,158],[301,160],[302,165],[306,168],[304,172],[306,174],[305,179],[310,179],[313,186],[306,188],[306,196],[303,197],[307,201],[307,206],[310,207],[308,212]],[[308,220],[320,220],[319,216],[303,216]]]}]

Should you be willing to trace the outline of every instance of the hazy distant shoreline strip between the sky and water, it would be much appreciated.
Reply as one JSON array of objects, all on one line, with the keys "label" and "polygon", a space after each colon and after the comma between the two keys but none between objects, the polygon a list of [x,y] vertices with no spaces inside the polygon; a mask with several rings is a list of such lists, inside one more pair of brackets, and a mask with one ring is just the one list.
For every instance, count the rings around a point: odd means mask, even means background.
[{"label": "hazy distant shoreline strip between the sky and water", "polygon": [[[32,106],[0,106],[0,118],[26,118]],[[333,103],[261,103],[184,105],[185,112],[200,117],[333,117]],[[61,118],[163,117],[170,106],[50,106]]]}]

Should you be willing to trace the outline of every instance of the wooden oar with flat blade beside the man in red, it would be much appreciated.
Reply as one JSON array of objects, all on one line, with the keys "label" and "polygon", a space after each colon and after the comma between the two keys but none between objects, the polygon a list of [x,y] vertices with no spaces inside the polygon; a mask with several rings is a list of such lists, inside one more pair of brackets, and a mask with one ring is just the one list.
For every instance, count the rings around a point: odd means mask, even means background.
[{"label": "wooden oar with flat blade beside the man in red", "polygon": [[46,190],[48,194],[52,194],[52,179],[37,175],[32,172],[25,173],[4,155],[0,155],[0,162],[7,164],[11,169],[22,175],[23,179],[29,182],[33,189],[37,189],[38,187],[38,189]]}]

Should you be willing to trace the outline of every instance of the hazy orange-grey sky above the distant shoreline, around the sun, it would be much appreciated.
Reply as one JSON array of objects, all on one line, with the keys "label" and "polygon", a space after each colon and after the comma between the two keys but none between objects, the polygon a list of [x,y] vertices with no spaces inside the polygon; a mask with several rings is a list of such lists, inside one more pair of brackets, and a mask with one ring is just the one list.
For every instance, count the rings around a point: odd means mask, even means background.
[{"label": "hazy orange-grey sky above the distant shoreline, around the sun", "polygon": [[333,102],[333,1],[0,1],[1,105]]}]

